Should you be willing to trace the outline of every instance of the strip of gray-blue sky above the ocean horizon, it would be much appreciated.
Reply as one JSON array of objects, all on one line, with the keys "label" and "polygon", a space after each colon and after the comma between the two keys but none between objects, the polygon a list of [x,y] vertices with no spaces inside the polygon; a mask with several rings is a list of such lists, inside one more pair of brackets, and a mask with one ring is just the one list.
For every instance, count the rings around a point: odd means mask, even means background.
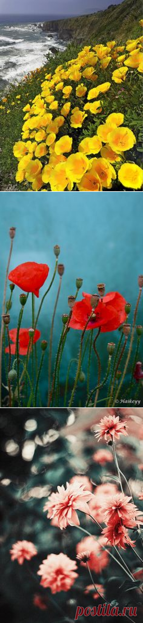
[{"label": "strip of gray-blue sky above the ocean horizon", "polygon": [[122,0],[0,0],[0,13],[41,15],[78,15],[105,9]]}]

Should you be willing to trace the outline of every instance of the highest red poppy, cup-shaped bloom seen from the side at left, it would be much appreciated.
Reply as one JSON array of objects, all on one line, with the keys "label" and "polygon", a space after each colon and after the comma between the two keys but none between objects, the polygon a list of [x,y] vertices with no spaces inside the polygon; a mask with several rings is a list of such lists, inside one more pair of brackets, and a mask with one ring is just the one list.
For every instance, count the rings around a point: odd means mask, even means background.
[{"label": "highest red poppy, cup-shaped bloom seen from the side at left", "polygon": [[37,262],[24,262],[19,264],[9,273],[9,281],[18,285],[24,292],[33,292],[39,296],[39,290],[48,277],[49,267],[47,264]]}]

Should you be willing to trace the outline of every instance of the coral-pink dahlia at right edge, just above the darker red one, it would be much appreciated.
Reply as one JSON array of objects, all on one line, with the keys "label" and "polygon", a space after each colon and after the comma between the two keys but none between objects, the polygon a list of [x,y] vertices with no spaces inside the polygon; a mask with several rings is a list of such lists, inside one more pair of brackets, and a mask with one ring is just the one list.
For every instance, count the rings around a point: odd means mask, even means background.
[{"label": "coral-pink dahlia at right edge, just above the darker red one", "polygon": [[139,519],[141,511],[131,502],[131,499],[124,493],[117,493],[115,497],[108,498],[103,503],[103,521],[105,521],[106,525],[115,526],[121,523],[127,528],[132,528],[137,523],[142,523]]}]

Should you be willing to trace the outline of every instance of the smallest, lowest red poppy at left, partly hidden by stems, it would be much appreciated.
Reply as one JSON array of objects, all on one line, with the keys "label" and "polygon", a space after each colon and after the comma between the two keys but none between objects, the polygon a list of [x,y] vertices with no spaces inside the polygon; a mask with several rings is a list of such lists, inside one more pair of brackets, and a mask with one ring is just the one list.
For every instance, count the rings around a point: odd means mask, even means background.
[{"label": "smallest, lowest red poppy at left, partly hidden by stems", "polygon": [[[35,329],[35,333],[33,336],[33,344],[35,344],[35,342],[39,340],[40,335],[41,335],[40,331],[38,331],[38,329]],[[16,336],[17,336],[17,329],[11,329],[9,331],[9,337],[11,341],[13,342],[13,344],[11,344],[11,354],[15,354]],[[27,354],[29,340],[30,340],[30,336],[29,336],[28,329],[20,329],[19,330],[19,354]],[[5,353],[9,353],[9,346],[5,348]]]}]

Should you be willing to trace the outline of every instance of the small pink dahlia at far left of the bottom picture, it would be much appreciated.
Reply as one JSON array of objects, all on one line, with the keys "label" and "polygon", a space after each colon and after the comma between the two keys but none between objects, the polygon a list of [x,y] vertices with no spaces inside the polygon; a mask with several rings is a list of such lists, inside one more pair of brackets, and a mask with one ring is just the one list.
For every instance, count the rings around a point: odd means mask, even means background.
[{"label": "small pink dahlia at far left of the bottom picture", "polygon": [[30,560],[37,555],[37,549],[31,541],[17,541],[10,549],[11,560],[17,560],[19,564],[23,564],[24,560]]}]

